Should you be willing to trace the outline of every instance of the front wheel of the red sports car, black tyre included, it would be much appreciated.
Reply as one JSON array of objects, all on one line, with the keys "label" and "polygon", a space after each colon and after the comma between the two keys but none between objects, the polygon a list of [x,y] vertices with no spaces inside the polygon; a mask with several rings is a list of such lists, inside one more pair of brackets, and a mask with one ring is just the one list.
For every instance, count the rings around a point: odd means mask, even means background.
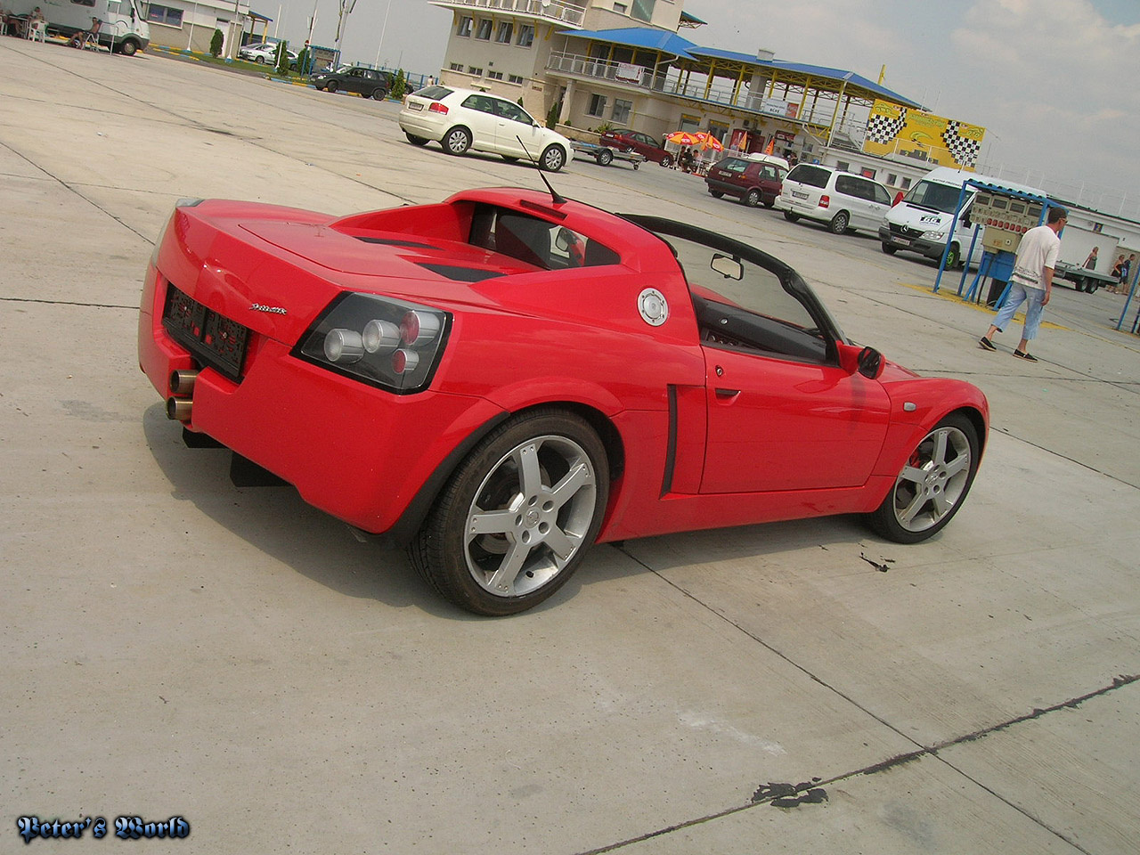
[{"label": "front wheel of the red sports car, black tyre included", "polygon": [[952,413],[918,443],[868,522],[895,543],[926,540],[958,513],[977,471],[977,429]]}]

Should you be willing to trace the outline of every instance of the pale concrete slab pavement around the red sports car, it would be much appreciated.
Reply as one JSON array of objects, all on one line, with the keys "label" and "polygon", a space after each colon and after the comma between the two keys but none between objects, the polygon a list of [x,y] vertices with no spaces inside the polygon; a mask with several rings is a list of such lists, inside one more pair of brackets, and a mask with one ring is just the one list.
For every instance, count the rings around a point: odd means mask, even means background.
[{"label": "pale concrete slab pavement around the red sports car", "polygon": [[[23,815],[179,815],[187,839],[139,845],[209,853],[1134,850],[1123,298],[1058,291],[1027,365],[874,239],[576,161],[564,195],[756,243],[852,337],[977,383],[991,442],[926,544],[848,518],[630,540],[475,619],[187,449],[138,372],[138,293],[180,196],[349,213],[534,169],[407,145],[394,104],[146,55],[0,39],[0,850]],[[824,796],[773,806],[800,783]]]}]

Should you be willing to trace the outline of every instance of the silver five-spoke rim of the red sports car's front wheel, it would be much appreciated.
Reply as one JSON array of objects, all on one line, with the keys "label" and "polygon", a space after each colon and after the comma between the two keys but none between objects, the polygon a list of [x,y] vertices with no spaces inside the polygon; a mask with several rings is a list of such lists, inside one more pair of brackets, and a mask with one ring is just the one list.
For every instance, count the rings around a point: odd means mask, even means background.
[{"label": "silver five-spoke rim of the red sports car's front wheel", "polygon": [[895,520],[926,531],[954,512],[970,481],[970,441],[952,425],[928,433],[895,480]]}]

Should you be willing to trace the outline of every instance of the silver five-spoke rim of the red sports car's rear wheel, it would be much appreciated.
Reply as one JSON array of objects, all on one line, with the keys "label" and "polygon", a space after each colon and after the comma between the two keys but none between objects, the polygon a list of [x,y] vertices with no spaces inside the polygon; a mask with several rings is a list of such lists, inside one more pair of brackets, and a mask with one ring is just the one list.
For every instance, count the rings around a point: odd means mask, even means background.
[{"label": "silver five-spoke rim of the red sports car's rear wheel", "polygon": [[503,455],[467,511],[464,557],[489,594],[519,597],[557,576],[584,546],[597,487],[586,450],[547,434]]}]

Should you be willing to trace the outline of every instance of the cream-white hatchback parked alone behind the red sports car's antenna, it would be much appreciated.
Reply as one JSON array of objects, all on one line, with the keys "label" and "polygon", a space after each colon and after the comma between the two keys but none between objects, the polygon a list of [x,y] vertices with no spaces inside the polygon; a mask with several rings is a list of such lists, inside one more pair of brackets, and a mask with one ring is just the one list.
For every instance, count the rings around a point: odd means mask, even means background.
[{"label": "cream-white hatchback parked alone behind the red sports car's antenna", "polygon": [[573,160],[570,140],[542,127],[506,98],[472,89],[431,85],[404,99],[400,129],[408,141],[434,141],[448,154],[490,152],[505,161],[532,160],[557,172]]}]

